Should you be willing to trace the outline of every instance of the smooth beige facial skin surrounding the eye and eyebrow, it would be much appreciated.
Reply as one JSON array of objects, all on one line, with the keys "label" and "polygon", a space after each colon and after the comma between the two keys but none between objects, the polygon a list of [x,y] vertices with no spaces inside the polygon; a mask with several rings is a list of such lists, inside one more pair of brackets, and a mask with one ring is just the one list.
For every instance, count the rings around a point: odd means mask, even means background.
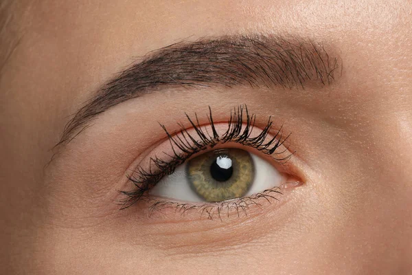
[{"label": "smooth beige facial skin surrounding the eye and eyebrow", "polygon": [[[0,273],[412,273],[410,1],[79,0],[13,8],[22,39],[0,76]],[[133,56],[183,39],[254,33],[328,43],[343,75],[305,91],[214,88],[130,100],[46,166],[69,115]],[[113,198],[128,186],[126,170],[156,150],[153,137],[164,137],[158,121],[173,128],[183,111],[205,114],[208,105],[225,121],[243,103],[293,132],[290,165],[305,184],[284,203],[224,221],[118,211]]]}]

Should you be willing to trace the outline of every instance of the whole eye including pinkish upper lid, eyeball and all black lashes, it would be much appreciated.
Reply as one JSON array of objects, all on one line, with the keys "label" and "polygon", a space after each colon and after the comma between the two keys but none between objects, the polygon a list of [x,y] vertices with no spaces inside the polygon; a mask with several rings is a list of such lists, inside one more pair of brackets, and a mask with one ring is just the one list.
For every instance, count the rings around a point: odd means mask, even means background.
[{"label": "whole eye including pinkish upper lid, eyeball and all black lashes", "polygon": [[282,166],[293,155],[284,146],[289,135],[282,138],[282,126],[273,130],[271,117],[260,120],[266,126],[256,126],[256,116],[244,105],[230,112],[227,123],[215,123],[210,107],[205,124],[196,113],[194,119],[186,118],[188,123],[179,122],[181,130],[174,133],[161,124],[168,141],[131,170],[128,179],[135,188],[119,191],[126,196],[121,209],[146,201],[149,215],[175,208],[182,213],[199,210],[201,216],[206,212],[208,219],[216,213],[221,217],[222,210],[240,216],[239,209],[260,207],[301,185],[290,168]]}]

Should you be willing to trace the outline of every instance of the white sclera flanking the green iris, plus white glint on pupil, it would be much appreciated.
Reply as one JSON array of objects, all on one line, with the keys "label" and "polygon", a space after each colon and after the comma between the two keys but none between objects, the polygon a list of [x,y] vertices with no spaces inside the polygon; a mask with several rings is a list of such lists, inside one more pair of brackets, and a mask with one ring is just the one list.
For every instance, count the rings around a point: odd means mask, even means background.
[{"label": "white sclera flanking the green iris, plus white glint on pupil", "polygon": [[[251,188],[245,196],[279,187],[284,183],[284,176],[279,173],[275,167],[257,155],[251,153],[251,157],[255,168],[255,178],[253,179]],[[219,157],[216,162],[222,168],[231,167],[231,159]],[[163,177],[163,179],[150,190],[150,195],[164,197],[175,201],[205,202],[190,187],[190,181],[188,180],[186,173],[187,163],[188,162],[185,162],[185,164],[176,168],[172,175]]]}]

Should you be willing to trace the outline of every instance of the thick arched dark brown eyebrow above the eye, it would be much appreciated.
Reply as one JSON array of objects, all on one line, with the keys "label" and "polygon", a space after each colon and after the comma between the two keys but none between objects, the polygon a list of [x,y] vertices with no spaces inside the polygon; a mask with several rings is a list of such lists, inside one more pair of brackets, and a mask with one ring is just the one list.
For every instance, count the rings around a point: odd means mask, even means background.
[{"label": "thick arched dark brown eyebrow above the eye", "polygon": [[145,94],[172,87],[249,85],[304,89],[329,85],[342,72],[339,56],[321,43],[276,36],[219,36],[180,42],[150,52],[108,81],[65,126],[59,144],[69,142],[96,115]]}]

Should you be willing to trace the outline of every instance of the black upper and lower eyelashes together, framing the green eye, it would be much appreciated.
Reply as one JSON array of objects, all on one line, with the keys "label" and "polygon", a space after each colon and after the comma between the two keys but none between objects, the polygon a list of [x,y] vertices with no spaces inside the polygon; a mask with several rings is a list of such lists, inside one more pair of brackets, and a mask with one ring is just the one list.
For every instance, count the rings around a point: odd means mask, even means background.
[{"label": "black upper and lower eyelashes together, framing the green eye", "polygon": [[[253,131],[253,128],[255,127],[256,116],[255,114],[249,114],[246,104],[233,108],[230,113],[230,118],[227,122],[227,131],[221,136],[218,135],[216,131],[215,122],[213,120],[210,107],[209,114],[207,115],[207,120],[209,121],[211,133],[209,133],[205,127],[202,128],[201,124],[199,123],[197,113],[194,114],[195,120],[192,120],[192,118],[190,118],[190,115],[188,115],[187,113],[185,113],[185,115],[188,122],[194,129],[197,139],[192,136],[187,131],[185,126],[183,126],[183,124],[181,123],[178,123],[178,125],[181,127],[181,130],[177,131],[176,135],[171,135],[165,128],[165,126],[163,124],[160,124],[160,126],[168,136],[170,146],[172,147],[173,151],[172,155],[169,155],[165,152],[163,153],[171,159],[164,161],[159,157],[151,157],[150,164],[153,163],[153,165],[156,167],[155,170],[152,169],[151,165],[148,170],[144,170],[144,168],[138,166],[132,175],[128,175],[128,179],[135,185],[135,190],[119,191],[122,195],[126,196],[126,199],[120,201],[120,204],[122,205],[122,208],[120,208],[120,210],[132,206],[133,204],[137,203],[137,201],[146,199],[147,201],[154,201],[149,207],[150,213],[155,210],[161,210],[164,208],[169,208],[171,206],[176,207],[176,210],[181,211],[182,214],[187,212],[187,210],[196,208],[200,209],[202,214],[203,212],[207,212],[208,218],[211,219],[211,208],[213,207],[217,206],[216,212],[218,213],[219,218],[221,217],[221,210],[225,208],[227,208],[228,214],[229,208],[236,208],[239,215],[239,209],[245,211],[245,209],[248,208],[251,204],[256,204],[259,206],[259,203],[255,202],[256,199],[263,197],[264,199],[269,201],[269,198],[276,199],[271,195],[272,192],[282,194],[281,192],[279,192],[279,188],[274,188],[271,190],[264,190],[263,192],[249,197],[233,199],[231,201],[222,201],[221,203],[205,203],[201,206],[197,206],[192,203],[177,203],[173,201],[152,199],[150,196],[146,195],[146,192],[150,190],[150,188],[155,186],[163,177],[174,173],[174,170],[178,166],[183,164],[187,159],[192,157],[192,155],[204,151],[207,148],[213,148],[217,144],[235,142],[244,146],[255,148],[266,155],[282,155],[283,153],[288,151],[288,147],[286,147],[282,152],[276,152],[277,148],[279,148],[279,146],[282,146],[282,144],[284,144],[288,137],[290,137],[289,134],[282,140],[282,126],[279,130],[277,130],[271,140],[265,142],[266,137],[272,129],[273,122],[271,120],[271,116],[269,116],[268,122],[266,123],[264,129],[262,129],[262,132],[255,137],[251,137],[251,133]],[[244,120],[246,121],[244,122]],[[176,148],[178,148],[182,153],[176,153]],[[275,159],[275,161],[284,164],[288,161],[288,159],[290,159],[290,157],[292,157],[292,155],[293,153],[290,153],[286,157],[272,158]]]}]

